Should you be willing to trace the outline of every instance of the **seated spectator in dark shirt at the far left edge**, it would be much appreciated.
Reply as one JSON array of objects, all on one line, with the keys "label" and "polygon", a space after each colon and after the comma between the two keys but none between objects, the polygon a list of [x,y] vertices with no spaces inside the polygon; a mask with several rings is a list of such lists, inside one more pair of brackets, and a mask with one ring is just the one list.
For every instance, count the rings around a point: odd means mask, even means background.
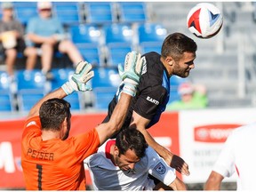
[{"label": "seated spectator in dark shirt at the far left edge", "polygon": [[27,65],[31,65],[35,58],[35,52],[27,49],[23,39],[24,27],[18,21],[13,18],[13,4],[11,2],[3,2],[2,8],[2,20],[0,20],[0,50],[4,52],[5,64],[7,67],[7,73],[10,76],[10,80],[13,80],[14,64],[17,58],[18,52],[24,53],[27,58]]}]

